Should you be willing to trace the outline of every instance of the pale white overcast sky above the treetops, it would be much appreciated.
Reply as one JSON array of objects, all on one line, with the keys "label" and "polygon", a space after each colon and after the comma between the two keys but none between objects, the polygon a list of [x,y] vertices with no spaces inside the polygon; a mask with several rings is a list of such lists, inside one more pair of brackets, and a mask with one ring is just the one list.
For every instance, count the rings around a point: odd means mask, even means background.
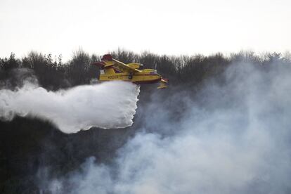
[{"label": "pale white overcast sky above the treetops", "polygon": [[290,0],[1,0],[0,58],[11,52],[209,55],[291,50]]}]

